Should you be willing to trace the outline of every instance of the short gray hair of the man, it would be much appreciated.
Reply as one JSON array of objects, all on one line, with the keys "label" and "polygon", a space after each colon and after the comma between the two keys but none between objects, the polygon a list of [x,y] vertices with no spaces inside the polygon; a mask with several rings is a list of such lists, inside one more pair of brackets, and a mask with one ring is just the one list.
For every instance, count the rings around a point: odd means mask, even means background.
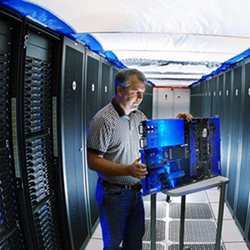
[{"label": "short gray hair of the man", "polygon": [[115,93],[117,93],[118,87],[126,88],[128,86],[128,79],[132,75],[136,75],[140,81],[146,83],[145,75],[138,69],[123,69],[115,76]]}]

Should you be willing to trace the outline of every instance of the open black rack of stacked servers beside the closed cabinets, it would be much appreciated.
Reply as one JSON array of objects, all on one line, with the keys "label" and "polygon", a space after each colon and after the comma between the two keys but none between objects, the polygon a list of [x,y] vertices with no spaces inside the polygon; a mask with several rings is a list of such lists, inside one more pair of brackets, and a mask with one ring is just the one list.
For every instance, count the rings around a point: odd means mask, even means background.
[{"label": "open black rack of stacked servers beside the closed cabinets", "polygon": [[24,204],[32,232],[29,249],[60,249],[58,161],[54,154],[53,96],[59,40],[25,24],[17,89],[17,147]]}]

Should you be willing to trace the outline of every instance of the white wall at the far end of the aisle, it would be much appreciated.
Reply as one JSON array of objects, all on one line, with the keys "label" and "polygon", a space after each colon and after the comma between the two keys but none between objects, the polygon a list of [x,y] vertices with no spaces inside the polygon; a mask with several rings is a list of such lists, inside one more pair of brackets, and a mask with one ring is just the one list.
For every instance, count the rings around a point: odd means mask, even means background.
[{"label": "white wall at the far end of the aisle", "polygon": [[190,110],[190,89],[188,88],[154,88],[153,118],[173,118],[179,112]]}]

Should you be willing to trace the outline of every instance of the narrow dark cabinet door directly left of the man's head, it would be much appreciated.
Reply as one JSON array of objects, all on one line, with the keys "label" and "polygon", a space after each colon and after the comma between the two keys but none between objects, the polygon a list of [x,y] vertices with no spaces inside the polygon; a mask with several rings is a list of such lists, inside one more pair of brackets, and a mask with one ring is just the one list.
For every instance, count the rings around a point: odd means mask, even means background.
[{"label": "narrow dark cabinet door directly left of the man's head", "polygon": [[101,60],[101,107],[104,107],[111,101],[111,65]]}]

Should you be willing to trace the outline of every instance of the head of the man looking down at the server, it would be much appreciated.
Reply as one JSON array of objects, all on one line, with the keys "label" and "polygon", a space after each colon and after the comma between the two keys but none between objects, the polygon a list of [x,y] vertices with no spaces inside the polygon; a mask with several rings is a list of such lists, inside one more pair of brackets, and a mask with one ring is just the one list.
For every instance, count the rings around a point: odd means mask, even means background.
[{"label": "head of the man looking down at the server", "polygon": [[115,95],[125,112],[136,110],[143,100],[146,77],[137,69],[124,69],[115,77]]}]

